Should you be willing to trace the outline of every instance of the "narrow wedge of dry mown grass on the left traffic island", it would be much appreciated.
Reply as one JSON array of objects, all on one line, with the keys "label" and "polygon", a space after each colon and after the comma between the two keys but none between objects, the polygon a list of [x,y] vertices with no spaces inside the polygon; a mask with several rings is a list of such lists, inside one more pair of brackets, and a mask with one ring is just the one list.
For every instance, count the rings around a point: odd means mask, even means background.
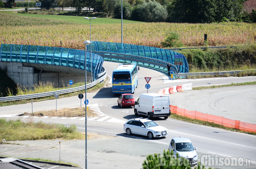
[{"label": "narrow wedge of dry mown grass on the left traffic island", "polygon": [[[55,109],[55,110],[50,110],[50,111],[38,111],[38,112],[33,112],[33,113],[23,113],[23,114],[20,114],[20,116],[85,117],[85,107],[57,109],[57,112]],[[96,114],[88,108],[87,116],[95,117]]]}]

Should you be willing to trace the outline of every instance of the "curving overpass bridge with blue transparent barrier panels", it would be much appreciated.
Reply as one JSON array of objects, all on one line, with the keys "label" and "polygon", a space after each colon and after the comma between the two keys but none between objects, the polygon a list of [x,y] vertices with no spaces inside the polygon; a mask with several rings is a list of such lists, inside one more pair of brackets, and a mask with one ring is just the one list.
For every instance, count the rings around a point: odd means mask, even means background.
[{"label": "curving overpass bridge with blue transparent barrier panels", "polygon": [[[162,71],[167,71],[166,65],[170,63],[176,77],[177,73],[189,72],[186,57],[175,51],[101,41],[91,41],[90,45],[87,45],[86,49],[92,47],[92,52],[87,50],[85,59],[85,50],[1,44],[0,68],[6,70],[7,75],[16,84],[23,86],[32,86],[39,81],[51,81],[57,86],[68,85],[69,80],[74,83],[84,82],[85,68],[87,81],[92,82],[102,73],[104,60],[137,63]],[[175,55],[182,56],[182,65],[174,64]]]}]

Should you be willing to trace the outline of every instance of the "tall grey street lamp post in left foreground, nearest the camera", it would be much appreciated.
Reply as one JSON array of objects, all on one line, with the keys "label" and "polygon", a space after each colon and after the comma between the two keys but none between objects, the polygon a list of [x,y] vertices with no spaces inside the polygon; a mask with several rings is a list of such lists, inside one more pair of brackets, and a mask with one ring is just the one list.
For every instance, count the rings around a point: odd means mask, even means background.
[{"label": "tall grey street lamp post in left foreground, nearest the camera", "polygon": [[86,40],[84,41],[85,44],[85,63],[84,63],[84,69],[85,69],[85,169],[87,169],[87,99],[86,99],[86,45],[90,45],[91,41]]}]

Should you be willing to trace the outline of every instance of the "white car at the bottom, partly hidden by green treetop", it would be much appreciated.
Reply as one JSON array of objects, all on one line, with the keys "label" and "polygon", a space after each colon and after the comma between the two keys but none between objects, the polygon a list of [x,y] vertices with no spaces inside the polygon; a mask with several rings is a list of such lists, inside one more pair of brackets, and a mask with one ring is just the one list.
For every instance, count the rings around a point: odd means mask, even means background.
[{"label": "white car at the bottom, partly hidden by green treetop", "polygon": [[197,147],[194,147],[190,139],[183,137],[172,138],[169,151],[173,150],[174,154],[178,153],[178,156],[187,158],[191,166],[197,165]]}]

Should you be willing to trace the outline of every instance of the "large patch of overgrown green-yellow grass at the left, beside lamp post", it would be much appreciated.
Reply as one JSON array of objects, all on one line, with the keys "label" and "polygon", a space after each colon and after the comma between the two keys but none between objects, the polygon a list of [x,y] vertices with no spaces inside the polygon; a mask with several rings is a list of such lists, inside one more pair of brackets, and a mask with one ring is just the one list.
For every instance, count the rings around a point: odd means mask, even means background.
[{"label": "large patch of overgrown green-yellow grass at the left, beside lamp post", "polygon": [[32,119],[26,122],[0,119],[0,141],[41,140],[41,139],[84,139],[85,135],[76,131],[76,125],[70,127],[55,123],[34,123]]}]

